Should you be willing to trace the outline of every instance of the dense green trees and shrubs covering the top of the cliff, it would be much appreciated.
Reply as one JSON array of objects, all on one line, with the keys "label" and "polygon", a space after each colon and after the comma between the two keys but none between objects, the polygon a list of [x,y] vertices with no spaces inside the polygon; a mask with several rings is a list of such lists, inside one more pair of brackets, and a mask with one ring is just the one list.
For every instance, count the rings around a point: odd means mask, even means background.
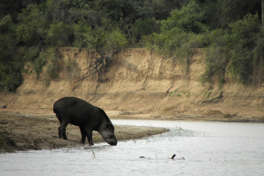
[{"label": "dense green trees and shrubs covering the top of the cliff", "polygon": [[203,81],[218,78],[224,84],[228,71],[243,84],[263,83],[260,0],[0,2],[0,86],[5,90],[21,84],[25,63],[40,72],[46,50],[93,45],[108,55],[148,47],[185,60],[194,48],[205,48]]}]

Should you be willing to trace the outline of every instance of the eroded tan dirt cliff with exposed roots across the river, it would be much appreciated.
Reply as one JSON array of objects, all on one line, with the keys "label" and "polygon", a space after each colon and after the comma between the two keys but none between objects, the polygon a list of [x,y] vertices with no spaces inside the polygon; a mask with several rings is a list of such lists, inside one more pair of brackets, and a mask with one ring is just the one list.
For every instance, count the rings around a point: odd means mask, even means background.
[{"label": "eroded tan dirt cliff with exposed roots across the river", "polygon": [[194,50],[184,61],[149,49],[123,50],[101,75],[99,84],[96,76],[75,82],[98,53],[79,48],[59,48],[58,52],[56,71],[50,72],[54,61],[48,59],[37,78],[29,63],[16,93],[1,91],[2,112],[54,118],[53,103],[75,96],[91,100],[110,118],[264,120],[264,87],[246,87],[228,76],[221,88],[199,81],[205,68],[202,49]]}]

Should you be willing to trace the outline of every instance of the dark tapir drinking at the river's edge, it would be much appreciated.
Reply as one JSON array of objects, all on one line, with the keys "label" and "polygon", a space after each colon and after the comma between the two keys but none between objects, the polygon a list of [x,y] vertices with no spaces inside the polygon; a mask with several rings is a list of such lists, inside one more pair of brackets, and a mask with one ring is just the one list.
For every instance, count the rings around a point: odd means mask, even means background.
[{"label": "dark tapir drinking at the river's edge", "polygon": [[70,123],[80,127],[82,143],[85,142],[87,136],[89,144],[93,145],[92,132],[95,130],[110,145],[117,144],[114,126],[106,113],[87,101],[76,97],[64,97],[54,103],[53,112],[60,121],[59,138],[63,137],[68,140],[65,128]]}]

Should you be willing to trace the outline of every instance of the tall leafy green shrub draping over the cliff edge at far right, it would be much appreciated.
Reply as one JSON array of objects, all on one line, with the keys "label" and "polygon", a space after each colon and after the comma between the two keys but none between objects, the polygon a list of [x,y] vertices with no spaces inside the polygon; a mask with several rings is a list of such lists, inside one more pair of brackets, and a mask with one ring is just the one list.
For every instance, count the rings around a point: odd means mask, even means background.
[{"label": "tall leafy green shrub draping over the cliff edge at far right", "polygon": [[256,47],[257,33],[260,31],[258,15],[248,13],[242,20],[232,22],[229,26],[233,45],[229,70],[243,84],[248,84],[252,82],[253,49]]}]

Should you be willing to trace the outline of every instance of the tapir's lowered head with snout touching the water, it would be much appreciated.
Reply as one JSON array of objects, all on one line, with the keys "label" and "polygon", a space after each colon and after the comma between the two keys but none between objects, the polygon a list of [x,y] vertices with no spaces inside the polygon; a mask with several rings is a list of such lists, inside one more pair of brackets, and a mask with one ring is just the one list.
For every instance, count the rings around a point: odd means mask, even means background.
[{"label": "tapir's lowered head with snout touching the water", "polygon": [[103,140],[105,140],[105,142],[107,142],[110,145],[117,145],[117,140],[114,135],[114,130],[115,130],[114,126],[111,123],[107,123],[106,128],[100,131]]}]

